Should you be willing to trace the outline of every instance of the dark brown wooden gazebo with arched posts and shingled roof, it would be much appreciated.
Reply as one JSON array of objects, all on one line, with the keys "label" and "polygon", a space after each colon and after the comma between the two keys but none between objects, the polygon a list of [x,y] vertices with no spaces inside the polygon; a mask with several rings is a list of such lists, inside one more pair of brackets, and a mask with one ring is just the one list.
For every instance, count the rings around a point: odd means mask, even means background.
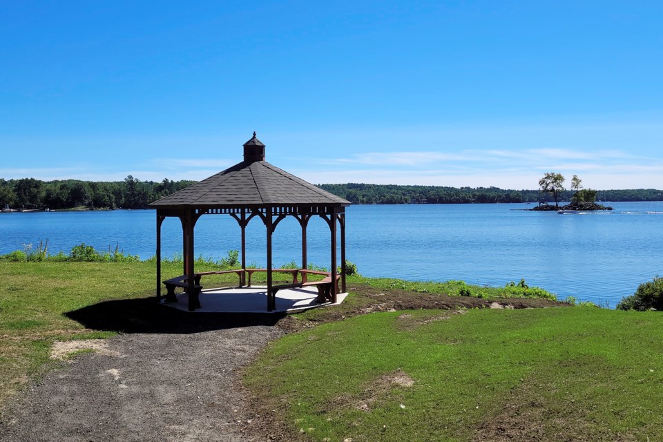
[{"label": "dark brown wooden gazebo with arched posts and shingled roof", "polygon": [[[320,216],[329,225],[331,233],[330,271],[327,295],[336,302],[338,280],[340,290],[346,291],[345,265],[337,266],[338,227],[340,227],[340,262],[345,263],[345,207],[350,202],[332,195],[309,182],[278,169],[265,161],[265,144],[253,132],[251,140],[244,143],[244,161],[235,164],[205,180],[152,202],[149,207],[157,210],[157,300],[162,298],[161,276],[161,226],[166,217],[176,217],[182,223],[183,275],[164,281],[166,287],[182,287],[189,294],[189,311],[200,307],[200,273],[194,269],[195,223],[202,215],[230,215],[239,224],[242,235],[242,269],[240,285],[244,285],[246,267],[246,228],[253,218],[259,218],[267,231],[267,311],[276,307],[276,291],[273,284],[272,234],[279,222],[287,216],[296,218],[302,229],[302,269],[307,269],[306,230],[311,217]],[[302,282],[306,282],[302,273]],[[250,275],[249,275],[250,276]],[[170,287],[169,287],[170,285]],[[168,300],[166,298],[166,300]]]}]

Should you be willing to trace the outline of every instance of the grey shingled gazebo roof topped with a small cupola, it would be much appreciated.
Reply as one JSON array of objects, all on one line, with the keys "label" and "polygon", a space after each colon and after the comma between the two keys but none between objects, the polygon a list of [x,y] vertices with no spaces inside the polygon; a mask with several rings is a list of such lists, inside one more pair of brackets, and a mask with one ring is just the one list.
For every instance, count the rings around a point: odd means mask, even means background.
[{"label": "grey shingled gazebo roof topped with a small cupola", "polygon": [[244,161],[149,204],[153,209],[348,206],[349,201],[265,161],[265,144],[253,133],[244,143]]}]

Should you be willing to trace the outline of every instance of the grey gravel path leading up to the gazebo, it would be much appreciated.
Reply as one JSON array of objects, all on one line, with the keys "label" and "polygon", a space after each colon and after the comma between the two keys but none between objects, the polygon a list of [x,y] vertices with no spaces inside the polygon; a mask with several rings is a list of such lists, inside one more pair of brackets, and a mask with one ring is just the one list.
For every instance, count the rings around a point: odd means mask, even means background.
[{"label": "grey gravel path leading up to the gazebo", "polygon": [[238,369],[280,334],[254,325],[117,336],[109,352],[81,354],[19,394],[0,440],[253,441]]}]

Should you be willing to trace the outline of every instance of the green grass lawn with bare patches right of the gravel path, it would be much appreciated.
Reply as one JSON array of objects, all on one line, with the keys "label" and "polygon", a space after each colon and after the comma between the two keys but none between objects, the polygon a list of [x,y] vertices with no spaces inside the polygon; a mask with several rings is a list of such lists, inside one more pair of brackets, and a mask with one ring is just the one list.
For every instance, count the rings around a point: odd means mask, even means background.
[{"label": "green grass lawn with bare patches right of the gravel path", "polygon": [[369,314],[281,338],[245,381],[304,440],[656,441],[662,319],[587,307]]}]

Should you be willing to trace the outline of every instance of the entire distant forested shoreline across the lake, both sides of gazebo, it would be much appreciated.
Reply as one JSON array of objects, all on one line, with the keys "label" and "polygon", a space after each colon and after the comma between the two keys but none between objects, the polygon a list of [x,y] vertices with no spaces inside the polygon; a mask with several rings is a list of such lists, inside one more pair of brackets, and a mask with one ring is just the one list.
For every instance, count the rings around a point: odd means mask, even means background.
[{"label": "entire distant forested shoreline across the lake, both sides of gazebo", "polygon": [[[140,181],[129,175],[124,181],[41,181],[34,178],[0,178],[0,208],[13,209],[144,209],[147,204],[184,189],[195,181]],[[471,202],[548,202],[550,195],[538,190],[507,190],[497,187],[396,186],[388,184],[320,184],[321,189],[353,204],[452,204]],[[573,191],[564,191],[569,201]],[[599,191],[599,201],[661,201],[663,191],[628,189]]]}]

